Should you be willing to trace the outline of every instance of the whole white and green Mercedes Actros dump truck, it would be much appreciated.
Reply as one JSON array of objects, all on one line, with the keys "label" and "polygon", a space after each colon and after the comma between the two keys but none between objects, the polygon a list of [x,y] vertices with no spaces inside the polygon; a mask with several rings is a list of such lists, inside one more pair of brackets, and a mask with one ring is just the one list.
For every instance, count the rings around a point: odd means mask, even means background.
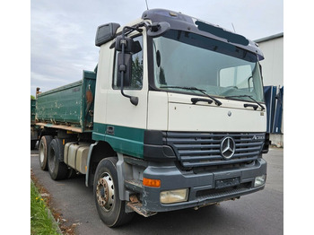
[{"label": "whole white and green Mercedes Actros dump truck", "polygon": [[135,213],[215,205],[266,184],[269,135],[257,43],[152,9],[100,25],[93,71],[38,93],[39,164],[83,174],[109,227]]}]

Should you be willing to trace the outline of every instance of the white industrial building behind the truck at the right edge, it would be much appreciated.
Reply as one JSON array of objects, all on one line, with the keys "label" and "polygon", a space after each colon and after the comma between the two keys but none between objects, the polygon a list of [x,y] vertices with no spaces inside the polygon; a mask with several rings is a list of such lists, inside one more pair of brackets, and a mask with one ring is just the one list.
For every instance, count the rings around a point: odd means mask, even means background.
[{"label": "white industrial building behind the truck at the right edge", "polygon": [[[263,39],[257,39],[258,47],[264,53],[262,65],[264,86],[283,88],[283,32]],[[283,116],[281,133],[271,134],[272,144],[283,146]]]}]

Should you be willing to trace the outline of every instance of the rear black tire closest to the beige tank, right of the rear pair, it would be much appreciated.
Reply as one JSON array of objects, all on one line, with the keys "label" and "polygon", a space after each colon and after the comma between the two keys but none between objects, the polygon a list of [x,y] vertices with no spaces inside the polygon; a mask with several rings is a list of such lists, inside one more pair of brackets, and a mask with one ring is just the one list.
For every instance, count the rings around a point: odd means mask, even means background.
[{"label": "rear black tire closest to the beige tank, right of the rear pair", "polygon": [[51,141],[48,151],[48,170],[50,177],[54,180],[64,179],[67,177],[67,167],[63,159],[65,146],[62,141],[55,138]]}]

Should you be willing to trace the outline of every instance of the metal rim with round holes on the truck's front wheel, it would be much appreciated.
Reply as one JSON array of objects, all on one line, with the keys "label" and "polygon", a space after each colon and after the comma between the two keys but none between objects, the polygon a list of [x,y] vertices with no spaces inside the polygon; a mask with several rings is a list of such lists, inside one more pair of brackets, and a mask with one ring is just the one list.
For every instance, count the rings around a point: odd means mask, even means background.
[{"label": "metal rim with round holes on the truck's front wheel", "polygon": [[97,182],[96,187],[97,202],[106,212],[114,206],[115,188],[112,177],[105,172]]}]

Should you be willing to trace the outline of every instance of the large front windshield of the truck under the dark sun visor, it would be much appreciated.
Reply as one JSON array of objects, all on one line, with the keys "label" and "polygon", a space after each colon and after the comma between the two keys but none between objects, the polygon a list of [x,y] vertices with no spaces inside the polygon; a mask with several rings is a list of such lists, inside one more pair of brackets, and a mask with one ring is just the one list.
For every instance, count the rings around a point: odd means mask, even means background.
[{"label": "large front windshield of the truck under the dark sun visor", "polygon": [[164,91],[264,101],[257,56],[195,33],[170,30],[153,39],[154,85]]}]

